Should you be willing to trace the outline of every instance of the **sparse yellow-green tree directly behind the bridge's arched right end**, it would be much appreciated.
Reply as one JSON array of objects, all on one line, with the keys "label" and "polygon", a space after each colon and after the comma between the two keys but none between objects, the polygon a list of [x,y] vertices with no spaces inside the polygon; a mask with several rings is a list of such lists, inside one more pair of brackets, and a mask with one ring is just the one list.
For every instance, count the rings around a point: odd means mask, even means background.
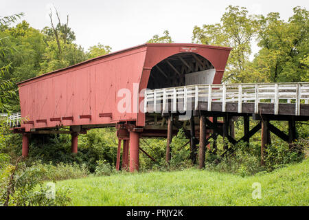
[{"label": "sparse yellow-green tree directly behind the bridge's arched right end", "polygon": [[223,81],[238,83],[249,63],[251,41],[259,27],[258,17],[248,14],[246,8],[229,5],[221,23],[194,27],[192,42],[233,47]]}]

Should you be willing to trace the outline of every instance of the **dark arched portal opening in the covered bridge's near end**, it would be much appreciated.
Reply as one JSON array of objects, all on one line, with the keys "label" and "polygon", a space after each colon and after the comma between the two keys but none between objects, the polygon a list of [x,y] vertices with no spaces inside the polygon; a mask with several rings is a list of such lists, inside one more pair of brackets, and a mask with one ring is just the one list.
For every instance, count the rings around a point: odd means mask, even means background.
[{"label": "dark arched portal opening in the covered bridge's near end", "polygon": [[179,53],[152,67],[148,89],[211,84],[216,69],[206,58],[195,53]]}]

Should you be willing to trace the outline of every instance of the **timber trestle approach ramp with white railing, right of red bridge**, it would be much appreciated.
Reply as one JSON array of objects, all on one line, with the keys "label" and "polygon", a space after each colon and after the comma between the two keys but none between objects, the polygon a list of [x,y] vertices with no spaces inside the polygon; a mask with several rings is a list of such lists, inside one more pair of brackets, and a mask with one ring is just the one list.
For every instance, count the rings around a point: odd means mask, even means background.
[{"label": "timber trestle approach ramp with white railing, right of red bridge", "polygon": [[[199,168],[205,164],[205,148],[209,146],[210,139],[214,139],[214,148],[218,135],[227,138],[233,145],[241,141],[249,143],[250,137],[260,130],[263,164],[264,149],[266,144],[271,143],[270,132],[288,143],[295,141],[295,122],[309,120],[308,100],[309,83],[190,85],[147,90],[144,111],[146,122],[164,124],[167,121],[166,162],[170,160],[173,130],[183,127],[185,135],[190,138],[194,163],[196,144],[199,144]],[[218,122],[218,117],[223,118],[222,122]],[[240,117],[244,122],[244,135],[236,140],[233,123]],[[252,129],[249,126],[250,117],[260,121]],[[162,122],[158,122],[158,118]],[[271,124],[272,120],[287,121],[288,134]],[[188,121],[190,127],[185,128]],[[233,151],[233,148],[224,147],[223,155]]]}]

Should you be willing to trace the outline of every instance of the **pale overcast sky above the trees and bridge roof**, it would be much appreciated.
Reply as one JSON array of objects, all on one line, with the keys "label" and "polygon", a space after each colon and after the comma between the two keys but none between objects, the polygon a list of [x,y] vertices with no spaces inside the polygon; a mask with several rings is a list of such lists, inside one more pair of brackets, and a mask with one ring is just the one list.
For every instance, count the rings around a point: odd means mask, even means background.
[{"label": "pale overcast sky above the trees and bridge roof", "polygon": [[[246,7],[252,14],[279,12],[286,20],[297,5],[309,8],[308,0],[0,0],[0,16],[24,12],[30,25],[42,29],[49,25],[49,8],[56,6],[63,23],[69,14],[69,27],[76,43],[84,50],[99,42],[113,52],[140,45],[153,35],[170,32],[175,43],[191,43],[194,25],[219,23],[228,5]],[[253,46],[253,52],[258,48]]]}]

